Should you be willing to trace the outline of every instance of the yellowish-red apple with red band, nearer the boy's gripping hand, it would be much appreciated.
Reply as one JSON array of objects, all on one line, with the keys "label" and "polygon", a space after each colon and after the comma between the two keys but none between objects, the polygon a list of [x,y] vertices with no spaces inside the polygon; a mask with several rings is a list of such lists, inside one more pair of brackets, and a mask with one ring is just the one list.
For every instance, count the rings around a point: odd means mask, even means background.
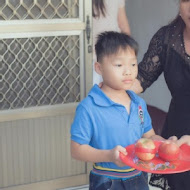
[{"label": "yellowish-red apple with red band, nearer the boy's gripping hand", "polygon": [[143,161],[152,160],[156,154],[154,141],[147,138],[139,139],[135,145],[135,154]]}]

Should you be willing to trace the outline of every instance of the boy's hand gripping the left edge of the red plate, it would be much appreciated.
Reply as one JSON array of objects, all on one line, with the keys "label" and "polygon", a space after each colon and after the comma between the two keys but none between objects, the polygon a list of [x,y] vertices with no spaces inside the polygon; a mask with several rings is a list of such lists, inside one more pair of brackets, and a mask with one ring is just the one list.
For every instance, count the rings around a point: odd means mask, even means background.
[{"label": "boy's hand gripping the left edge of the red plate", "polygon": [[125,164],[119,158],[120,152],[123,153],[124,155],[127,155],[126,149],[118,145],[114,149],[110,150],[110,159],[111,159],[111,162],[114,162],[117,166],[124,167]]}]

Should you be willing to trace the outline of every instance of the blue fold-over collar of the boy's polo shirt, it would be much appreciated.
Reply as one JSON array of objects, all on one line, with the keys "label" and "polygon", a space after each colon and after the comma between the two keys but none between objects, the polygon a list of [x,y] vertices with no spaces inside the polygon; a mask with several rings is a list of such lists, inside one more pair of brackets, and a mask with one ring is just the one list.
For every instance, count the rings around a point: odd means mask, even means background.
[{"label": "blue fold-over collar of the boy's polo shirt", "polygon": [[[137,98],[137,95],[130,91],[127,90],[128,95],[130,96],[131,100],[135,103],[139,103],[139,100]],[[115,102],[113,102],[101,89],[100,87],[95,84],[92,89],[90,90],[88,96],[91,96],[94,100],[94,103],[99,105],[99,106],[104,106],[104,107],[109,107],[112,106],[114,104],[117,104]]]}]

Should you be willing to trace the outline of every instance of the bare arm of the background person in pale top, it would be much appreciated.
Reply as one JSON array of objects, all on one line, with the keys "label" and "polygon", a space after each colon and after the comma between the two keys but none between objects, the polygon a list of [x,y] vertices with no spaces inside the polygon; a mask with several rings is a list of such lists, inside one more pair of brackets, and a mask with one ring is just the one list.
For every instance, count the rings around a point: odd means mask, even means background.
[{"label": "bare arm of the background person in pale top", "polygon": [[118,25],[121,32],[126,33],[128,35],[131,34],[125,6],[119,8],[118,10]]}]

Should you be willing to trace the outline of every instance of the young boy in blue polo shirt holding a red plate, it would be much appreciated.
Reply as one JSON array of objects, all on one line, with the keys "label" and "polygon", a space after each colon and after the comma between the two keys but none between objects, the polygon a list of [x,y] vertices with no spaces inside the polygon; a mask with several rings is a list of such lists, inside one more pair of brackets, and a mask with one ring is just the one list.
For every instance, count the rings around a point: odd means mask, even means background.
[{"label": "young boy in blue polo shirt holding a red plate", "polygon": [[71,127],[72,157],[93,162],[90,190],[147,190],[147,176],[124,165],[119,153],[138,139],[156,137],[142,98],[129,91],[137,77],[138,45],[130,36],[105,32],[95,45],[95,70],[103,78],[78,105]]}]

